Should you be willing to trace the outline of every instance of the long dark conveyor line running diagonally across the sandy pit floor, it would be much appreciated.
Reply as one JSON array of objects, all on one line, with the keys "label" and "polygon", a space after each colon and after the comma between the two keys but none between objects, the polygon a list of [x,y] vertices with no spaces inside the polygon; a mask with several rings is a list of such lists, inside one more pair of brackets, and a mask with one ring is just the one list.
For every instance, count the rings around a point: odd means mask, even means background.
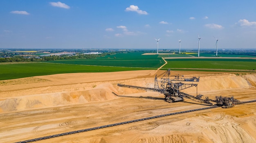
[{"label": "long dark conveyor line running diagonally across the sandy pit floor", "polygon": [[[256,100],[239,102],[239,103],[237,103],[237,104],[245,104],[245,103],[251,103],[251,102],[256,102]],[[54,135],[47,136],[47,137],[41,137],[41,138],[36,138],[36,139],[30,139],[30,140],[27,140],[27,141],[20,141],[20,142],[16,142],[16,143],[29,143],[29,142],[40,141],[40,140],[45,140],[45,139],[51,139],[51,138],[60,137],[60,136],[66,136],[66,135],[70,135],[70,134],[76,134],[76,133],[80,133],[80,132],[88,132],[88,131],[91,131],[91,130],[99,130],[99,129],[102,129],[102,128],[108,128],[108,127],[113,127],[113,126],[119,126],[119,125],[134,123],[134,122],[138,122],[138,121],[144,121],[144,120],[155,119],[155,118],[165,117],[165,116],[171,116],[171,115],[177,115],[177,114],[182,114],[182,113],[189,113],[189,112],[207,110],[207,109],[218,108],[218,107],[221,107],[221,106],[210,106],[210,107],[205,107],[205,108],[198,108],[198,109],[193,109],[193,110],[187,110],[187,111],[169,113],[169,114],[158,115],[158,116],[153,116],[153,117],[147,117],[147,118],[142,118],[142,119],[136,119],[136,120],[131,120],[131,121],[124,121],[124,122],[121,122],[121,123],[115,123],[115,124],[110,124],[110,125],[105,125],[105,126],[99,126],[99,127],[94,127],[94,128],[88,128],[88,129],[84,129],[84,130],[76,130],[76,131],[72,131],[72,132],[65,132],[65,133],[61,133],[61,134],[54,134]]]}]

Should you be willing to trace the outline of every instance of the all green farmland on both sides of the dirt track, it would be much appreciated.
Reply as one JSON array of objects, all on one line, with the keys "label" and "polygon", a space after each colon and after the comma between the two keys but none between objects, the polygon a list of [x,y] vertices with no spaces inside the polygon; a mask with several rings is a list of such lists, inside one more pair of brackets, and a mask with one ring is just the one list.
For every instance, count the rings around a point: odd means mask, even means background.
[{"label": "all green farmland on both sides of the dirt track", "polygon": [[[162,57],[188,57],[189,54],[150,54],[142,52],[117,53],[99,58],[68,59],[46,62],[0,64],[0,80],[64,73],[117,72],[157,69],[164,65]],[[255,59],[243,58],[173,58],[166,59],[162,69],[231,71],[256,69]]]}]

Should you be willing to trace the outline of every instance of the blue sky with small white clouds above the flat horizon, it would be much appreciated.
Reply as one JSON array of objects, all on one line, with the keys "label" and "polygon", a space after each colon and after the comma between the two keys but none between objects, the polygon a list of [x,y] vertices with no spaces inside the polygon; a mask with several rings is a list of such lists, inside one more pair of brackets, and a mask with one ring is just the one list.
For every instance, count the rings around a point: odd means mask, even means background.
[{"label": "blue sky with small white clouds above the flat horizon", "polygon": [[[0,48],[256,48],[256,0],[0,0]],[[214,37],[213,37],[214,36]]]}]

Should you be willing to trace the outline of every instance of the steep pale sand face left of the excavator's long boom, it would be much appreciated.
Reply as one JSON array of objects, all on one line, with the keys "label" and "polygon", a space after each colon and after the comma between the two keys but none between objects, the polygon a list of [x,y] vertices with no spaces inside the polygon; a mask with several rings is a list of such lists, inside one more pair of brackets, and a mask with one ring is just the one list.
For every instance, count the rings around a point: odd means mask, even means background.
[{"label": "steep pale sand face left of the excavator's long boom", "polygon": [[103,84],[90,90],[58,92],[38,95],[19,96],[0,101],[0,112],[21,111],[31,108],[45,108],[67,104],[99,102],[117,98],[111,84]]}]

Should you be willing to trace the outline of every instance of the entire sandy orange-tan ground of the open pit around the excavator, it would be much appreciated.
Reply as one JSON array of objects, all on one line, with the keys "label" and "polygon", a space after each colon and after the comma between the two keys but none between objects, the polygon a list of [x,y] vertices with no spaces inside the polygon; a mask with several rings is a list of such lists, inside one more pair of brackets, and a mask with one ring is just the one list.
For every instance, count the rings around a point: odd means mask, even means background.
[{"label": "entire sandy orange-tan ground of the open pit around the excavator", "polygon": [[[0,142],[17,142],[156,115],[204,108],[189,99],[164,102],[164,95],[118,87],[154,87],[165,71],[76,73],[0,80]],[[256,99],[256,74],[171,72],[200,76],[198,89],[183,92]],[[121,96],[116,96],[121,95]],[[153,99],[155,98],[155,99]],[[256,103],[161,117],[72,134],[44,143],[255,143]]]}]

